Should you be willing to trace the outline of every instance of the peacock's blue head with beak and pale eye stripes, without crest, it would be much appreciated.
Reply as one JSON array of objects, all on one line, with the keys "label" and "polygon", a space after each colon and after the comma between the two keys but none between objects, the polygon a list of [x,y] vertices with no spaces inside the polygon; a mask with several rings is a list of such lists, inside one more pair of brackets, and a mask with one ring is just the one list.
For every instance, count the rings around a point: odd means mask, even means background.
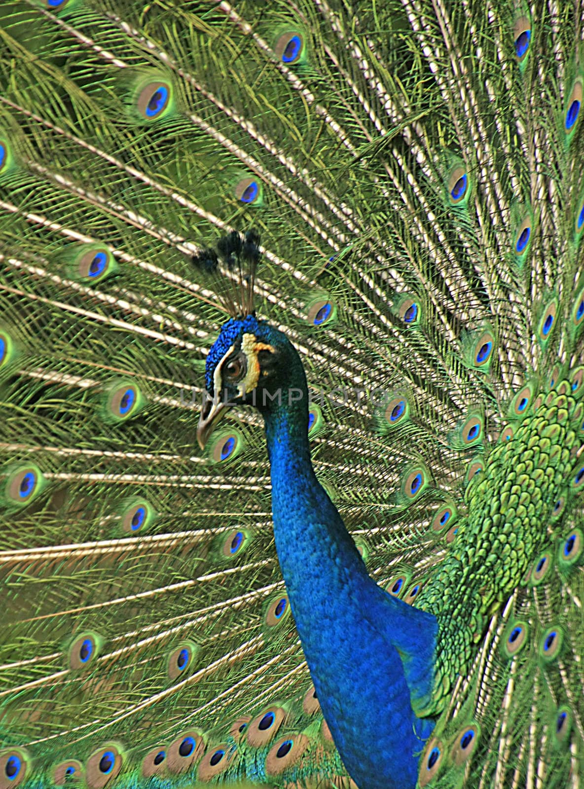
[{"label": "peacock's blue head with beak and pale eye stripes, without crest", "polygon": [[296,401],[306,392],[298,352],[286,335],[255,315],[223,324],[208,353],[205,386],[197,427],[201,449],[233,406],[255,406],[266,413],[290,402],[290,392],[296,393]]}]

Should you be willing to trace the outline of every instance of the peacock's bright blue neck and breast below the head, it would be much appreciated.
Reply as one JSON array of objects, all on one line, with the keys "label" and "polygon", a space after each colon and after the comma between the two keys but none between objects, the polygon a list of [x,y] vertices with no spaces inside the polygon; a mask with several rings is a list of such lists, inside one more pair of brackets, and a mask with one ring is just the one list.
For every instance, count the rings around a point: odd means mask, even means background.
[{"label": "peacock's bright blue neck and breast below the head", "polygon": [[[302,378],[304,374],[302,372]],[[436,619],[385,593],[310,462],[308,402],[264,412],[275,544],[325,720],[359,789],[415,787]]]}]

